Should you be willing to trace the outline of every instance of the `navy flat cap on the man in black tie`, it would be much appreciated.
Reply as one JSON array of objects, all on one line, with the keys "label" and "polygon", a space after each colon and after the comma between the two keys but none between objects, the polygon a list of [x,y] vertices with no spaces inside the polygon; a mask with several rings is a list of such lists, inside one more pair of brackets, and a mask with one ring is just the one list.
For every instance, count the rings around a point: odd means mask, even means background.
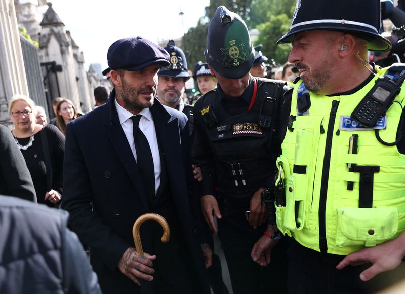
[{"label": "navy flat cap on the man in black tie", "polygon": [[152,64],[169,66],[169,58],[165,49],[141,37],[115,41],[107,52],[108,66],[114,70],[135,71]]}]

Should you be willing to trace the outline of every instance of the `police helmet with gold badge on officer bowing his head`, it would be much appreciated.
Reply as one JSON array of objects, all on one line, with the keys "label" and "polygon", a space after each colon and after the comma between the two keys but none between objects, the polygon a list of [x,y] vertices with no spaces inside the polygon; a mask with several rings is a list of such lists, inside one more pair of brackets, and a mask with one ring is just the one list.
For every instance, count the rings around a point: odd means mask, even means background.
[{"label": "police helmet with gold badge on officer bowing his head", "polygon": [[249,31],[239,15],[219,6],[208,27],[208,64],[228,79],[240,79],[252,68],[255,50]]}]

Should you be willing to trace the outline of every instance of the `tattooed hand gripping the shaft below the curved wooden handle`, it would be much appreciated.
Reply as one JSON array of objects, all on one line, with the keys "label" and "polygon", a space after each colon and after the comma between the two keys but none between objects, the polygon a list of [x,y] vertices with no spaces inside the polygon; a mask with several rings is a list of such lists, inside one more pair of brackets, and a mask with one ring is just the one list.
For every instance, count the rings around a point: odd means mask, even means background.
[{"label": "tattooed hand gripping the shaft below the curved wooden handle", "polygon": [[118,269],[140,286],[141,284],[137,278],[147,281],[153,280],[150,274],[155,272],[152,268],[152,260],[155,259],[156,255],[145,253],[145,256],[143,256],[136,252],[135,248],[128,248],[118,262]]}]

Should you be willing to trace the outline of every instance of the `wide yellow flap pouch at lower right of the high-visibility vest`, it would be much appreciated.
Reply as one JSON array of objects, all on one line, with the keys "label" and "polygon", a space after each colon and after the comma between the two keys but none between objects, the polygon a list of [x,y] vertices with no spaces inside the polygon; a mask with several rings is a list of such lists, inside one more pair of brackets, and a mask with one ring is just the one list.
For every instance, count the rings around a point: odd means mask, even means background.
[{"label": "wide yellow flap pouch at lower right of the high-visibility vest", "polygon": [[372,247],[393,238],[398,231],[397,207],[338,208],[336,245]]}]

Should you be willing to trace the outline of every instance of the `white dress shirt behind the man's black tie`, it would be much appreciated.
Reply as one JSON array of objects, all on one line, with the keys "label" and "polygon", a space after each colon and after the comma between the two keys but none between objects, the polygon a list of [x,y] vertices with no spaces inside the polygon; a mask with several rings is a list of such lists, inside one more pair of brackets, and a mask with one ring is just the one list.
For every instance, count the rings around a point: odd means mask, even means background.
[{"label": "white dress shirt behind the man's black tie", "polygon": [[[119,105],[116,99],[115,99],[115,107],[117,109],[121,128],[123,128],[128,143],[130,144],[132,154],[134,155],[134,158],[137,161],[134,143],[134,134],[133,134],[133,122],[131,119],[133,114],[127,111],[127,109],[125,109],[121,105]],[[157,144],[155,124],[153,123],[153,117],[152,114],[150,113],[149,108],[142,109],[142,111],[138,115],[142,115],[142,118],[139,121],[139,129],[142,131],[142,133],[148,140],[150,151],[152,152],[153,166],[155,170],[155,193],[156,193],[160,185],[160,153],[159,153],[159,146]]]}]

